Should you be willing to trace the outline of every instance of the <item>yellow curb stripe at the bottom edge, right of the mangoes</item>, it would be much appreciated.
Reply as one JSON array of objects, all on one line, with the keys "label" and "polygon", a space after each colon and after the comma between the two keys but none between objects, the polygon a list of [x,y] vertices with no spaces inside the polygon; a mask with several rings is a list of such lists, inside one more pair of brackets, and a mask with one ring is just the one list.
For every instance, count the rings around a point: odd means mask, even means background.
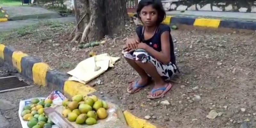
[{"label": "yellow curb stripe at the bottom edge, right of the mangoes", "polygon": [[146,120],[133,116],[132,113],[124,111],[126,123],[130,128],[157,128],[155,125],[148,123]]}]

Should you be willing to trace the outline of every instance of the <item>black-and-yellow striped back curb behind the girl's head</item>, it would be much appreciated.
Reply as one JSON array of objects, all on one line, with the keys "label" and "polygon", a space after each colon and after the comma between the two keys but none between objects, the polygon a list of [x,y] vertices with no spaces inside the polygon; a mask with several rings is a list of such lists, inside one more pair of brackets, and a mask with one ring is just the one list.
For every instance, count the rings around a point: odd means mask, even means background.
[{"label": "black-and-yellow striped back curb behind the girl's head", "polygon": [[[132,17],[135,13],[128,13]],[[256,22],[243,21],[243,20],[221,20],[210,18],[193,18],[193,17],[179,17],[179,16],[166,16],[164,24],[167,25],[191,25],[196,27],[208,28],[235,28],[235,29],[248,29],[256,30]]]}]

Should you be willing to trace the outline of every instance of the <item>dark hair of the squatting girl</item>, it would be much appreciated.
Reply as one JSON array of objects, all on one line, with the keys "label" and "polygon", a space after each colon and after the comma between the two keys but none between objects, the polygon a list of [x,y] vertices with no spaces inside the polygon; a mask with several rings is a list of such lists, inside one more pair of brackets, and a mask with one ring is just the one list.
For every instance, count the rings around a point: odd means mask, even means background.
[{"label": "dark hair of the squatting girl", "polygon": [[163,22],[166,16],[166,13],[164,11],[164,7],[161,0],[140,0],[137,7],[138,18],[141,20],[140,11],[142,10],[142,8],[148,5],[152,5],[153,8],[157,10],[158,18],[156,20],[156,24],[160,24],[161,22]]}]

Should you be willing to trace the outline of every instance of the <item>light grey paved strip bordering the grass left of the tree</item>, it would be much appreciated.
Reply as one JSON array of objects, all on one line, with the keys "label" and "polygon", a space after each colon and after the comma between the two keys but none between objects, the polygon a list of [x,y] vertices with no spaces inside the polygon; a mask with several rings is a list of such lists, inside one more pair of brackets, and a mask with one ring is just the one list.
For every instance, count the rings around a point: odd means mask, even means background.
[{"label": "light grey paved strip bordering the grass left of the tree", "polygon": [[59,22],[73,22],[76,21],[75,17],[62,17],[62,18],[54,18],[54,19],[29,19],[29,20],[17,20],[17,21],[8,21],[0,23],[0,32],[10,31],[15,28],[20,28],[24,26],[29,26],[33,24],[37,24],[40,21],[59,21]]}]

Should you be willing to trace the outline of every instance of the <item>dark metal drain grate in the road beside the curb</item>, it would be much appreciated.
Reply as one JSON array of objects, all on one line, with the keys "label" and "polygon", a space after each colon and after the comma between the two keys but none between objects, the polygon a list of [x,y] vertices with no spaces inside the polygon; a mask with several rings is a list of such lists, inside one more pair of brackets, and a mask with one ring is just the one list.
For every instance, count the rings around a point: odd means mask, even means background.
[{"label": "dark metal drain grate in the road beside the curb", "polygon": [[0,77],[0,92],[7,92],[28,87],[27,83],[20,81],[16,76]]}]

